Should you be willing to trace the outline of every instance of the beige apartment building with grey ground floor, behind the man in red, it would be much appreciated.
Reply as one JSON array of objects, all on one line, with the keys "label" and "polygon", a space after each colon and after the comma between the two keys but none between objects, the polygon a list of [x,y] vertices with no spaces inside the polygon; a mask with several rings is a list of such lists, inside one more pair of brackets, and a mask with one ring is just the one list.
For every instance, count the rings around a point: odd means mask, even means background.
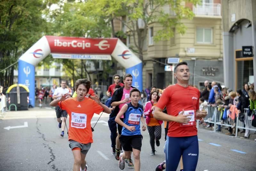
[{"label": "beige apartment building with grey ground floor, behind the man in red", "polygon": [[[189,84],[203,86],[205,80],[224,84],[221,1],[202,0],[201,5],[194,6],[185,2],[182,5],[189,7],[195,14],[192,20],[181,20],[187,27],[184,35],[173,28],[174,37],[170,40],[154,42],[154,35],[163,27],[156,22],[148,24],[143,47],[143,89],[151,86],[163,89],[173,83],[172,71],[165,71],[165,66],[170,65],[167,64],[170,57],[188,63],[191,73]],[[169,5],[162,8],[170,17],[175,17]],[[143,23],[140,25],[143,26]],[[127,32],[124,26],[122,28]],[[133,45],[129,33],[126,44]]]}]

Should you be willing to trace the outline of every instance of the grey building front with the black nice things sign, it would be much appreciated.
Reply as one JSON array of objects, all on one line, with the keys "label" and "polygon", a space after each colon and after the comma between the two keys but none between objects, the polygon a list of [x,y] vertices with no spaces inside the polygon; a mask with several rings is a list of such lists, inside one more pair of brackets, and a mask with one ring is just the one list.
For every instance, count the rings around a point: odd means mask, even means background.
[{"label": "grey building front with the black nice things sign", "polygon": [[243,89],[256,80],[256,1],[222,0],[224,82]]}]

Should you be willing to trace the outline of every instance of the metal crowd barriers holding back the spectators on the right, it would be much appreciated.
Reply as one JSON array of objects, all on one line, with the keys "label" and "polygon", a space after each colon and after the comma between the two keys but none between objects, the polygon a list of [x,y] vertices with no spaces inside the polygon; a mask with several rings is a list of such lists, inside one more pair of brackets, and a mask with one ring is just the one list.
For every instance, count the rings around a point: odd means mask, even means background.
[{"label": "metal crowd barriers holding back the spectators on the right", "polygon": [[[208,113],[207,116],[204,118],[204,122],[214,124],[214,127],[213,127],[214,132],[216,132],[216,126],[217,125],[232,127],[235,123],[235,120],[231,119],[228,116],[228,113],[227,113],[226,119],[223,120],[222,117],[223,117],[223,113],[224,113],[224,108],[219,108],[219,107],[207,105],[207,106],[204,107],[204,110],[206,110],[207,113]],[[221,111],[221,110],[223,110],[223,111]],[[236,136],[237,136],[238,128],[239,129],[256,131],[256,127],[252,126],[252,115],[248,117],[247,116],[247,110],[248,110],[248,108],[245,108],[244,111],[243,111],[244,112],[244,122],[241,122],[238,119],[239,114],[236,118]],[[253,110],[253,112],[255,113],[256,111]],[[198,126],[198,122],[197,122],[197,126]]]}]

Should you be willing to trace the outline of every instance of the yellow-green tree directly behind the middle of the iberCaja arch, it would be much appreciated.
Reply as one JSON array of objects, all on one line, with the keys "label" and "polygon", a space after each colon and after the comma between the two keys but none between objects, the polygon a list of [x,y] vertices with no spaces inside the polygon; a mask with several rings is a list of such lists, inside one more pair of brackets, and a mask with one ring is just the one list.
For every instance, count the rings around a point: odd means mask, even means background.
[{"label": "yellow-green tree directly behind the middle of the iberCaja arch", "polygon": [[[91,13],[88,3],[82,1],[53,1],[47,2],[47,8],[44,13],[49,22],[52,23],[52,35],[58,36],[76,36],[76,37],[110,37],[111,23],[108,18],[102,15]],[[55,9],[52,10],[52,6]],[[57,59],[65,68],[65,75],[71,76],[73,80],[87,77],[91,80],[90,73],[87,71],[88,62],[86,60]],[[98,60],[92,60],[95,66],[99,65]],[[109,61],[103,61],[107,64]],[[42,62],[44,63],[44,62]],[[87,64],[86,64],[87,63]],[[109,65],[104,65],[109,70]],[[70,75],[72,73],[72,75]],[[86,73],[86,74],[85,74]],[[96,69],[99,80],[100,72]],[[108,77],[108,73],[102,73]]]}]

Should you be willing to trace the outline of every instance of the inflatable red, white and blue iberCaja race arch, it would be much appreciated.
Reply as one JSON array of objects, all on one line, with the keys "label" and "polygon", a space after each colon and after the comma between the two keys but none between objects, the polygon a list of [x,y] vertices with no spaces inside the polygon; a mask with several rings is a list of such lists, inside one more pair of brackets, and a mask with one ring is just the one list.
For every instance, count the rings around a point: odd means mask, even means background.
[{"label": "inflatable red, white and blue iberCaja race arch", "polygon": [[118,38],[43,36],[18,62],[18,83],[29,88],[30,105],[35,106],[35,66],[46,56],[64,59],[115,58],[133,76],[132,86],[142,91],[142,61]]}]

